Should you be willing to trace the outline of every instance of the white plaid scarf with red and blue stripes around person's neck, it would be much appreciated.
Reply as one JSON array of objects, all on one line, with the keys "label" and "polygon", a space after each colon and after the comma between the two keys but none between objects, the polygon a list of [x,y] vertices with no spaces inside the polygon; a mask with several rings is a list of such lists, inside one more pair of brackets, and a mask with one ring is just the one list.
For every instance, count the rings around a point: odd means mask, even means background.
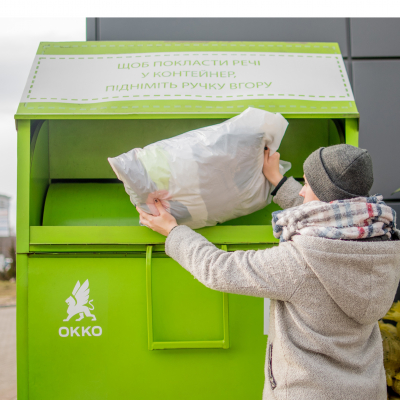
[{"label": "white plaid scarf with red and blue stripes around person's neck", "polygon": [[356,197],[330,203],[310,201],[297,207],[272,213],[274,236],[280,242],[293,235],[330,239],[366,239],[387,235],[396,227],[396,212],[383,196]]}]

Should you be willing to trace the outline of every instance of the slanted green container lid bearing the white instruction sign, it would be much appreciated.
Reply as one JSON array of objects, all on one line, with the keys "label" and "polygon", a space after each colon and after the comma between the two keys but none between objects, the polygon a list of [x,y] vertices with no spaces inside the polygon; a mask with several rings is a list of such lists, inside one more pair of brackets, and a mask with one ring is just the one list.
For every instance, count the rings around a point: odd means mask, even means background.
[{"label": "slanted green container lid bearing the white instruction sign", "polygon": [[247,107],[358,117],[337,43],[113,41],[40,43],[16,118],[229,117]]}]

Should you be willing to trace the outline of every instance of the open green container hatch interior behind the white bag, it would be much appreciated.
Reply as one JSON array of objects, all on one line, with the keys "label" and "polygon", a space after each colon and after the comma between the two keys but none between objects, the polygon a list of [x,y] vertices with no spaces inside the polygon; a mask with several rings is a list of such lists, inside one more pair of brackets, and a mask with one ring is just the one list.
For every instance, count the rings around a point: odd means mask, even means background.
[{"label": "open green container hatch interior behind the white bag", "polygon": [[[31,226],[137,226],[139,217],[107,157],[223,119],[49,120],[36,124],[31,152]],[[290,119],[279,152],[301,179],[303,162],[343,141],[330,119]],[[271,203],[223,225],[269,225]]]}]

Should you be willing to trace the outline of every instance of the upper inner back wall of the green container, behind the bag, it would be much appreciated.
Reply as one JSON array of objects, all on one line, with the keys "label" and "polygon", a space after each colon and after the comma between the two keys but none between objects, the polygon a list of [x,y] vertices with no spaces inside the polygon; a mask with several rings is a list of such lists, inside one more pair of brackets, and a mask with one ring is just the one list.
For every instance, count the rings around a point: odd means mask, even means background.
[{"label": "upper inner back wall of the green container, behind the bag", "polygon": [[[115,179],[107,157],[222,121],[50,121],[50,175],[52,179]],[[339,141],[330,120],[291,119],[279,149],[281,158],[292,163],[289,174],[302,177],[307,156],[332,140]]]}]

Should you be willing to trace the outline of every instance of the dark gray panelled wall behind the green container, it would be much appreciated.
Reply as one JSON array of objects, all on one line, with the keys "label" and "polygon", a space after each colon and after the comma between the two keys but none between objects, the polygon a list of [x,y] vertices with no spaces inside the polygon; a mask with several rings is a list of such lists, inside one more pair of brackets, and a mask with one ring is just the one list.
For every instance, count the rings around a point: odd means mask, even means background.
[{"label": "dark gray panelled wall behind the green container", "polygon": [[[87,40],[338,42],[360,112],[360,147],[374,162],[373,193],[400,215],[399,18],[88,18]],[[400,113],[399,113],[400,115]]]}]

